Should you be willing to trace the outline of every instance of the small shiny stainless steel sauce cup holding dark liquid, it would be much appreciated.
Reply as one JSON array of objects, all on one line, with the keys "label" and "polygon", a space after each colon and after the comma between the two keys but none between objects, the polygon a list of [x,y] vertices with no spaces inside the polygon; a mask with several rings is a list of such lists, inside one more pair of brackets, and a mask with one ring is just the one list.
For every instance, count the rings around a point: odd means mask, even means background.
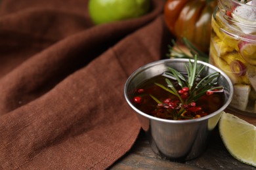
[{"label": "small shiny stainless steel sauce cup holding dark liquid", "polygon": [[185,64],[188,64],[188,61],[188,59],[163,59],[148,63],[129,76],[124,88],[125,99],[137,113],[152,150],[159,156],[169,160],[184,161],[200,156],[207,146],[211,131],[219,121],[221,112],[228,107],[233,96],[233,86],[230,78],[217,67],[198,61],[198,64],[206,65],[202,71],[202,76],[216,71],[221,73],[218,83],[224,86],[224,105],[219,110],[193,120],[164,120],[150,116],[133,105],[131,102],[132,95],[139,84],[149,78],[161,75],[164,71],[167,71],[167,67],[186,73]]}]

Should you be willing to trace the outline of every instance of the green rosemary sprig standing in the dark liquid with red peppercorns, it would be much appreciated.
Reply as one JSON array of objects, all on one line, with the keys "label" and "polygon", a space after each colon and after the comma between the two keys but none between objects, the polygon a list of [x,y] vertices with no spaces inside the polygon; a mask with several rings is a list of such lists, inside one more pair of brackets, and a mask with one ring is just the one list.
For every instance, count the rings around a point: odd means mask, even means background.
[{"label": "green rosemary sprig standing in the dark liquid with red peppercorns", "polygon": [[[168,67],[169,72],[163,73],[163,76],[166,77],[165,82],[167,83],[167,87],[162,84],[155,83],[156,86],[159,86],[163,90],[178,97],[181,103],[181,105],[179,105],[179,109],[167,110],[170,114],[173,114],[174,120],[177,120],[180,117],[185,118],[186,116],[182,116],[187,112],[186,107],[184,106],[191,105],[192,102],[198,101],[198,99],[202,95],[205,95],[206,92],[221,92],[221,90],[223,90],[222,86],[216,86],[217,80],[220,76],[219,72],[211,73],[203,78],[200,77],[204,68],[205,65],[198,64],[198,56],[195,55],[194,62],[189,59],[188,64],[186,65],[186,76],[179,73],[179,71]],[[177,81],[181,89],[188,88],[186,91],[188,92],[188,95],[182,97],[182,94],[179,93],[180,90],[177,90],[177,87],[173,85],[173,80]],[[158,104],[163,104],[153,95],[150,95],[150,97],[152,97],[152,99],[154,99]]]}]

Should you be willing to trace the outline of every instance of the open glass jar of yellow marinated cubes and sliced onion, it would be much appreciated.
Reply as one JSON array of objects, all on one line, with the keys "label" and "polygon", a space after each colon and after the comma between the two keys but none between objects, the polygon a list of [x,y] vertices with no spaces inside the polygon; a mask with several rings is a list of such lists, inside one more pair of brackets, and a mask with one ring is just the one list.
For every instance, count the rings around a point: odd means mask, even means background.
[{"label": "open glass jar of yellow marinated cubes and sliced onion", "polygon": [[256,1],[245,2],[218,1],[211,20],[209,63],[232,80],[230,109],[256,116]]}]

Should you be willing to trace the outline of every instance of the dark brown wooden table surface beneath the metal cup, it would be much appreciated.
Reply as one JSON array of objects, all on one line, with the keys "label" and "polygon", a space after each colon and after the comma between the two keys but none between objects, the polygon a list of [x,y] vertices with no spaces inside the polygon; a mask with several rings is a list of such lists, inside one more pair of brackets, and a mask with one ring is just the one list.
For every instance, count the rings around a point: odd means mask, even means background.
[{"label": "dark brown wooden table surface beneath the metal cup", "polygon": [[[247,122],[256,125],[256,118],[236,114]],[[150,144],[146,139],[143,131],[140,132],[139,138],[134,144],[133,148],[117,161],[110,169],[256,169],[250,165],[246,165],[234,159],[226,150],[221,137],[219,136],[219,129],[216,127],[213,130],[209,146],[207,150],[194,160],[185,162],[175,162],[163,160],[150,148]]]}]

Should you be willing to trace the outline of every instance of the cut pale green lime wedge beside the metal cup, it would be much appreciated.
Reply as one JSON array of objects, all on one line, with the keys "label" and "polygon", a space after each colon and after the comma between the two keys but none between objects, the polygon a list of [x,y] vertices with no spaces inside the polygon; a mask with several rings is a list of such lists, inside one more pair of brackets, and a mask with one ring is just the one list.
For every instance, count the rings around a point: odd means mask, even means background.
[{"label": "cut pale green lime wedge beside the metal cup", "polygon": [[256,127],[225,113],[219,121],[219,132],[226,149],[239,161],[256,167]]}]

